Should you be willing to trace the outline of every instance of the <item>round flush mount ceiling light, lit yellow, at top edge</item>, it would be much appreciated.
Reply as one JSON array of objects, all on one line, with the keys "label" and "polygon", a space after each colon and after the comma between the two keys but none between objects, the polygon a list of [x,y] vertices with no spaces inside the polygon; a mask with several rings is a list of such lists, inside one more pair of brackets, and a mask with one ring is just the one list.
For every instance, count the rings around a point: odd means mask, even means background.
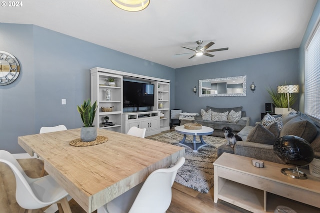
[{"label": "round flush mount ceiling light, lit yellow, at top edge", "polygon": [[111,2],[120,9],[136,12],[145,9],[150,0],[111,0]]}]

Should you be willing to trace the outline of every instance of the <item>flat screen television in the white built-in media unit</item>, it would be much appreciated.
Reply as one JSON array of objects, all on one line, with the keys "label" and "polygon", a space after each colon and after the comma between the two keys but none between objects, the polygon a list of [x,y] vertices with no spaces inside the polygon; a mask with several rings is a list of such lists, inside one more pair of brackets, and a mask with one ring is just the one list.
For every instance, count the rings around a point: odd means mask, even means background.
[{"label": "flat screen television in the white built-in media unit", "polygon": [[123,81],[123,107],[154,106],[154,85],[133,81]]}]

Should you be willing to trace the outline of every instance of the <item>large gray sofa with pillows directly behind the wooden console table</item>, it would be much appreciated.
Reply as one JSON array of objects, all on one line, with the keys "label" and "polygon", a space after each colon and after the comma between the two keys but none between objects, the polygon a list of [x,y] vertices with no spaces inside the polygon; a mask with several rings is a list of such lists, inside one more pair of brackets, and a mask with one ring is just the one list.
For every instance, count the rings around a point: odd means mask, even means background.
[{"label": "large gray sofa with pillows directly behind the wooden console table", "polygon": [[[272,131],[272,127],[269,125],[270,131],[266,131],[262,123],[258,123],[254,127],[246,126],[238,133],[243,141],[236,142],[234,148],[221,145],[218,148],[218,156],[223,152],[228,152],[253,159],[284,164],[274,154],[273,143],[278,137],[295,135],[308,141],[313,148],[314,157],[320,159],[320,129],[307,115],[301,112],[290,112],[274,118],[277,119],[277,122],[282,122],[281,129]],[[279,125],[281,126],[280,123]],[[277,125],[275,126],[278,127]],[[273,136],[270,132],[272,132]]]}]

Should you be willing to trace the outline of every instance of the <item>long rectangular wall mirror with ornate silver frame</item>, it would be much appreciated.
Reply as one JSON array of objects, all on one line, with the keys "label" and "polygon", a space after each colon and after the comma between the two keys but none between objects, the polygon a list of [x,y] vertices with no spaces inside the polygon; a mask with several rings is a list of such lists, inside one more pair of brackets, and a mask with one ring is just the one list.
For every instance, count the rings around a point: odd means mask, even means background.
[{"label": "long rectangular wall mirror with ornate silver frame", "polygon": [[199,97],[246,96],[246,75],[199,80]]}]

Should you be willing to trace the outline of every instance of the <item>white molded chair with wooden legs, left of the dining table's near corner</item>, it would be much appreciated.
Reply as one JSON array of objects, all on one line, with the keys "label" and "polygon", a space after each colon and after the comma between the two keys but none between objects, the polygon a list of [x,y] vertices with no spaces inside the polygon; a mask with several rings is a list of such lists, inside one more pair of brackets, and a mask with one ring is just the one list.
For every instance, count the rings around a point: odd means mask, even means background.
[{"label": "white molded chair with wooden legs, left of the dining table's near corner", "polygon": [[20,206],[19,213],[31,213],[37,210],[58,204],[59,212],[71,213],[67,201],[67,192],[60,187],[51,176],[29,178],[16,159],[5,150],[0,150],[0,162],[5,163],[12,170],[15,182],[15,199]]}]

